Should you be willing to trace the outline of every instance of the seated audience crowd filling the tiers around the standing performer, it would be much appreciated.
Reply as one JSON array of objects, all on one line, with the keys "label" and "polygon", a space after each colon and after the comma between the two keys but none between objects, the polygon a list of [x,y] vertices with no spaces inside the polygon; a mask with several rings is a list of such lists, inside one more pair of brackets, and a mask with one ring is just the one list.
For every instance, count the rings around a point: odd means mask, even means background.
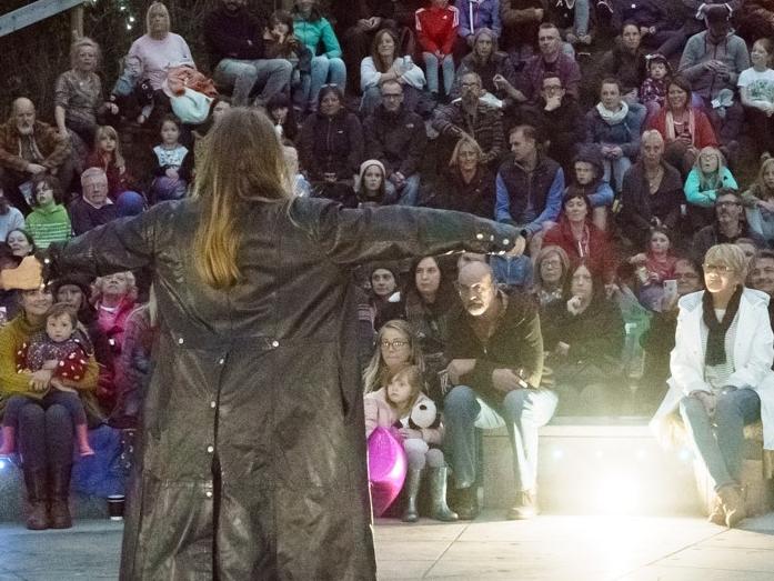
[{"label": "seated audience crowd filling the tiers around the standing performer", "polygon": [[[368,434],[396,427],[414,440],[406,520],[425,464],[433,515],[474,515],[474,429],[503,424],[517,489],[509,517],[533,515],[537,428],[554,413],[652,413],[667,378],[682,385],[675,409],[698,453],[714,453],[707,413],[757,388],[774,358],[768,319],[755,319],[774,294],[774,27],[753,18],[773,21],[766,2],[674,3],[358,0],[325,13],[295,0],[258,14],[245,0],[219,0],[203,20],[208,53],[194,60],[192,39],[153,2],[118,79],[107,82],[100,47],[79,38],[52,111],[34,96],[11,103],[0,127],[0,267],[184,198],[208,130],[230,107],[262,108],[296,196],[469,212],[525,240],[521,257],[421,257],[354,273]],[[597,50],[610,30],[612,48]],[[750,138],[753,151],[740,147]],[[717,244],[725,250],[708,254]],[[47,441],[51,430],[78,444],[84,421],[137,424],[159,324],[149,287],[141,271],[71,272],[0,294],[3,434],[26,457],[30,528],[69,524],[59,501],[71,460]],[[703,304],[687,329],[678,305]],[[82,353],[77,378],[22,354],[51,320],[69,321],[62,312],[77,318],[67,335]],[[747,332],[737,312],[765,343],[744,348],[765,354],[746,375],[741,348],[723,353],[728,333]],[[670,367],[673,348],[690,349],[681,330],[707,350],[698,371]],[[61,404],[73,398],[53,397],[64,393],[80,395],[86,420]],[[760,417],[756,398],[737,398],[745,422]],[[425,399],[438,421],[416,427]],[[721,518],[735,523],[736,460],[713,458]]]}]

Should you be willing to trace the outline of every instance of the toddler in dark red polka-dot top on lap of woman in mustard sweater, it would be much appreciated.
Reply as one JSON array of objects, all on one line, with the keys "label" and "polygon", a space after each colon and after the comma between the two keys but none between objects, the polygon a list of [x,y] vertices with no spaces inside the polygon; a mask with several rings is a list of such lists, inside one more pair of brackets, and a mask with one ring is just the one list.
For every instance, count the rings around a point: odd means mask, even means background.
[{"label": "toddler in dark red polka-dot top on lap of woman in mustard sweater", "polygon": [[[57,303],[46,315],[46,331],[36,333],[17,352],[17,371],[52,371],[52,379],[79,381],[86,373],[89,355],[82,333],[78,331],[78,318],[64,303]],[[60,383],[60,382],[57,382]],[[33,388],[34,390],[34,388]],[[30,400],[39,400],[44,408],[59,404],[66,408],[76,425],[76,441],[81,455],[94,455],[89,445],[83,403],[76,390],[64,385],[44,388],[36,394],[9,398],[2,422],[0,455],[16,451],[16,430],[19,412]]]}]

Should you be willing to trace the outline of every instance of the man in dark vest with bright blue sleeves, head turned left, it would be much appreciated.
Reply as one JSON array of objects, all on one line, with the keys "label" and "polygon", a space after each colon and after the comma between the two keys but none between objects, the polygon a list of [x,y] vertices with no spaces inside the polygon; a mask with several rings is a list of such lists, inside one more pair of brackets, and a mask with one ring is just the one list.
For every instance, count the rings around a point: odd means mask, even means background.
[{"label": "man in dark vest with bright blue sleeves, head turned left", "polygon": [[564,172],[541,151],[532,126],[516,126],[509,134],[513,156],[500,166],[494,218],[521,229],[527,242],[559,218]]}]

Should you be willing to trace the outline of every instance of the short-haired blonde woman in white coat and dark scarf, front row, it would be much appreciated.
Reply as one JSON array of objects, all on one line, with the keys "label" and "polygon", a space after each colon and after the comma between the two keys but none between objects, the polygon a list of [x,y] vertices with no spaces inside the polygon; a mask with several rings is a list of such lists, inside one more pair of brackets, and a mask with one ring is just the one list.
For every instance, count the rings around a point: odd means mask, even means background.
[{"label": "short-haired blonde woman in white coat and dark scarf, front row", "polygon": [[676,410],[696,455],[714,481],[710,521],[735,527],[745,518],[744,425],[763,420],[764,448],[774,447],[774,338],[768,295],[744,287],[747,259],[734,244],[704,257],[706,290],[680,299],[667,380],[653,425]]}]

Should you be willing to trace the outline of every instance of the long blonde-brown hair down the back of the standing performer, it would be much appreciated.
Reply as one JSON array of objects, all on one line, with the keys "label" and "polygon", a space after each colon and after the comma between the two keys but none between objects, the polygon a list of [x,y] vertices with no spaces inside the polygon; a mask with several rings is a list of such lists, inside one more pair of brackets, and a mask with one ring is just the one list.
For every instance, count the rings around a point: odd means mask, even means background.
[{"label": "long blonde-brown hair down the back of the standing performer", "polygon": [[237,263],[241,218],[257,202],[290,206],[290,173],[274,126],[257,109],[228,110],[201,144],[192,192],[201,200],[193,263],[210,287],[231,288],[242,274]]}]

